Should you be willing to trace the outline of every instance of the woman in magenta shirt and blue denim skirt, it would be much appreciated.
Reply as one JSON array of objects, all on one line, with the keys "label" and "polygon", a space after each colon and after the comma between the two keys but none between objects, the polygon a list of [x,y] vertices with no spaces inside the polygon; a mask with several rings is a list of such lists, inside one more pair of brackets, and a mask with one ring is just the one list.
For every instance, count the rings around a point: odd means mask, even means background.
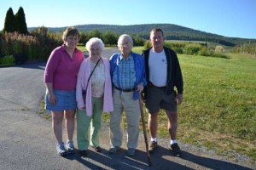
[{"label": "woman in magenta shirt and blue denim skirt", "polygon": [[[46,84],[45,109],[51,111],[52,127],[58,141],[56,150],[66,156],[74,152],[73,132],[76,112],[76,82],[84,54],[77,47],[79,31],[68,27],[63,32],[63,45],[55,48],[48,59],[44,71]],[[67,148],[62,140],[62,121],[66,118]]]}]

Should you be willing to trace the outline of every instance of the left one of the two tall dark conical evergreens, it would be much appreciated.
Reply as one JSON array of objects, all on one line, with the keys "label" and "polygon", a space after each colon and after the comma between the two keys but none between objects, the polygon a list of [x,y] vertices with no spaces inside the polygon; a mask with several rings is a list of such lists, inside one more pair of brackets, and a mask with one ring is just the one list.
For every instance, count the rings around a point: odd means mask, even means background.
[{"label": "left one of the two tall dark conical evergreens", "polygon": [[9,8],[5,16],[3,32],[14,32],[14,31],[18,31],[17,22],[16,22],[13,9]]}]

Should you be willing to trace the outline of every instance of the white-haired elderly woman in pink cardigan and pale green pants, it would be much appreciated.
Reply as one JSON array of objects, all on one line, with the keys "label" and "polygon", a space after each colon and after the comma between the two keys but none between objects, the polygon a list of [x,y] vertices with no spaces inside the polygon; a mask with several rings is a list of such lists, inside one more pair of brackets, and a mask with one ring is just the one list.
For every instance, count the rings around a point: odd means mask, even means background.
[{"label": "white-haired elderly woman in pink cardigan and pale green pants", "polygon": [[80,66],[76,91],[77,139],[82,156],[87,155],[89,144],[96,152],[101,151],[99,132],[102,112],[113,111],[110,66],[108,59],[102,58],[104,43],[93,37],[86,43],[86,49],[89,57]]}]

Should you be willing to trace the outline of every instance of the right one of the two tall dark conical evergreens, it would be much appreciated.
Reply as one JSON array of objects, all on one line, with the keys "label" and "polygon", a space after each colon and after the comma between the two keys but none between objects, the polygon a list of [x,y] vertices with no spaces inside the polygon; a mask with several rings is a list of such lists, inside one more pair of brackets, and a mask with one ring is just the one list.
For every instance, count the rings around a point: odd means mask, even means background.
[{"label": "right one of the two tall dark conical evergreens", "polygon": [[22,7],[20,7],[18,12],[15,14],[15,18],[18,26],[17,30],[20,32],[20,34],[27,34],[26,19]]}]

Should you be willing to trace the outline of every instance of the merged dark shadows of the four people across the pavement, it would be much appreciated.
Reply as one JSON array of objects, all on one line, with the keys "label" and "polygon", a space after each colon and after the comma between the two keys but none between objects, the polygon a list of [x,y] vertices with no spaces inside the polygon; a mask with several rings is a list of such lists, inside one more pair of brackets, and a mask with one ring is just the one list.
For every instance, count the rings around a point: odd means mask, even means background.
[{"label": "merged dark shadows of the four people across the pavement", "polygon": [[[117,154],[108,153],[108,150],[102,149],[97,153],[90,148],[87,156],[80,156],[78,150],[73,156],[67,156],[67,159],[76,160],[81,163],[81,168],[90,169],[244,169],[251,170],[248,167],[242,167],[227,161],[219,161],[213,158],[196,156],[183,151],[181,157],[172,156],[172,152],[164,147],[158,146],[154,154],[150,155],[152,162],[148,166],[148,156],[143,150],[136,150],[135,156],[126,156],[126,150],[122,149]],[[178,163],[177,163],[178,162]]]}]

